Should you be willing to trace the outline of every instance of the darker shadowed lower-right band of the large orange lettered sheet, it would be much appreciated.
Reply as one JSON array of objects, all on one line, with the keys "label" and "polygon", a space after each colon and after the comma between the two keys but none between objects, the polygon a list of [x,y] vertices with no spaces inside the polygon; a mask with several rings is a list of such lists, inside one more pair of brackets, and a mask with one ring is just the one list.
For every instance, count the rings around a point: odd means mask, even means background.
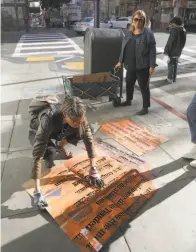
[{"label": "darker shadowed lower-right band of the large orange lettered sheet", "polygon": [[63,230],[77,243],[85,236],[90,243],[86,243],[87,247],[101,248],[120,224],[133,218],[154,195],[152,184],[145,185],[146,182],[137,170],[131,170],[107,189],[99,191],[63,226]]}]

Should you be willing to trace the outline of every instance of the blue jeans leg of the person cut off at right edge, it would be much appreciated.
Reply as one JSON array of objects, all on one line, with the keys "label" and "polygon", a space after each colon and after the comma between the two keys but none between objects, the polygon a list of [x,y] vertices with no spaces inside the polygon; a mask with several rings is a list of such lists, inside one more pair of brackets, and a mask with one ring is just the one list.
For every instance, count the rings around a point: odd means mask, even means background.
[{"label": "blue jeans leg of the person cut off at right edge", "polygon": [[196,144],[196,94],[188,106],[187,119],[191,132],[191,141]]}]

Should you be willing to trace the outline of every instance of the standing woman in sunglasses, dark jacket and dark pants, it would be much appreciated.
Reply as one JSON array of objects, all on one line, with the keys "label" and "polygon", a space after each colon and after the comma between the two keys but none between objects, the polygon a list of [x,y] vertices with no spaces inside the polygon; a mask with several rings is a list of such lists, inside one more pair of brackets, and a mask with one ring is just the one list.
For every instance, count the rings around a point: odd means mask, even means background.
[{"label": "standing woman in sunglasses, dark jacket and dark pants", "polygon": [[156,42],[152,31],[145,27],[146,14],[142,10],[134,13],[130,31],[125,36],[120,59],[116,68],[124,64],[126,76],[126,101],[121,106],[130,106],[136,80],[142,93],[143,108],[137,115],[148,114],[150,107],[149,78],[156,66]]}]

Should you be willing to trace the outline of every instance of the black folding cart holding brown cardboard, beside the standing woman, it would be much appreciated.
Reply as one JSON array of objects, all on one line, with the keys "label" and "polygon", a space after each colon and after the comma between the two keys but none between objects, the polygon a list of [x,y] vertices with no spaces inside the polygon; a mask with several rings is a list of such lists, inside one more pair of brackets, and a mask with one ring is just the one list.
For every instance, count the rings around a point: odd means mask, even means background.
[{"label": "black folding cart holding brown cardboard, beside the standing woman", "polygon": [[[114,107],[118,107],[121,98],[118,91],[121,85],[120,78],[113,73],[93,73],[80,76],[63,76],[63,87],[65,95],[78,96],[81,99],[100,100],[103,96],[108,96]],[[97,104],[97,103],[96,103]],[[91,105],[94,105],[91,103]]]}]

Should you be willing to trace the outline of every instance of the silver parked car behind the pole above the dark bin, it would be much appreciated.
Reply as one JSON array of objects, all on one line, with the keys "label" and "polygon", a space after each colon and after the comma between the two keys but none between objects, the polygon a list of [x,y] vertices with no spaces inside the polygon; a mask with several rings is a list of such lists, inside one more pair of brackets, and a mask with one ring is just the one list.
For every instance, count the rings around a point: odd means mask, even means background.
[{"label": "silver parked car behind the pole above the dark bin", "polygon": [[[73,29],[78,34],[84,34],[87,28],[94,27],[94,18],[85,17],[80,22],[76,22]],[[100,19],[100,28],[111,28],[110,22]]]}]

